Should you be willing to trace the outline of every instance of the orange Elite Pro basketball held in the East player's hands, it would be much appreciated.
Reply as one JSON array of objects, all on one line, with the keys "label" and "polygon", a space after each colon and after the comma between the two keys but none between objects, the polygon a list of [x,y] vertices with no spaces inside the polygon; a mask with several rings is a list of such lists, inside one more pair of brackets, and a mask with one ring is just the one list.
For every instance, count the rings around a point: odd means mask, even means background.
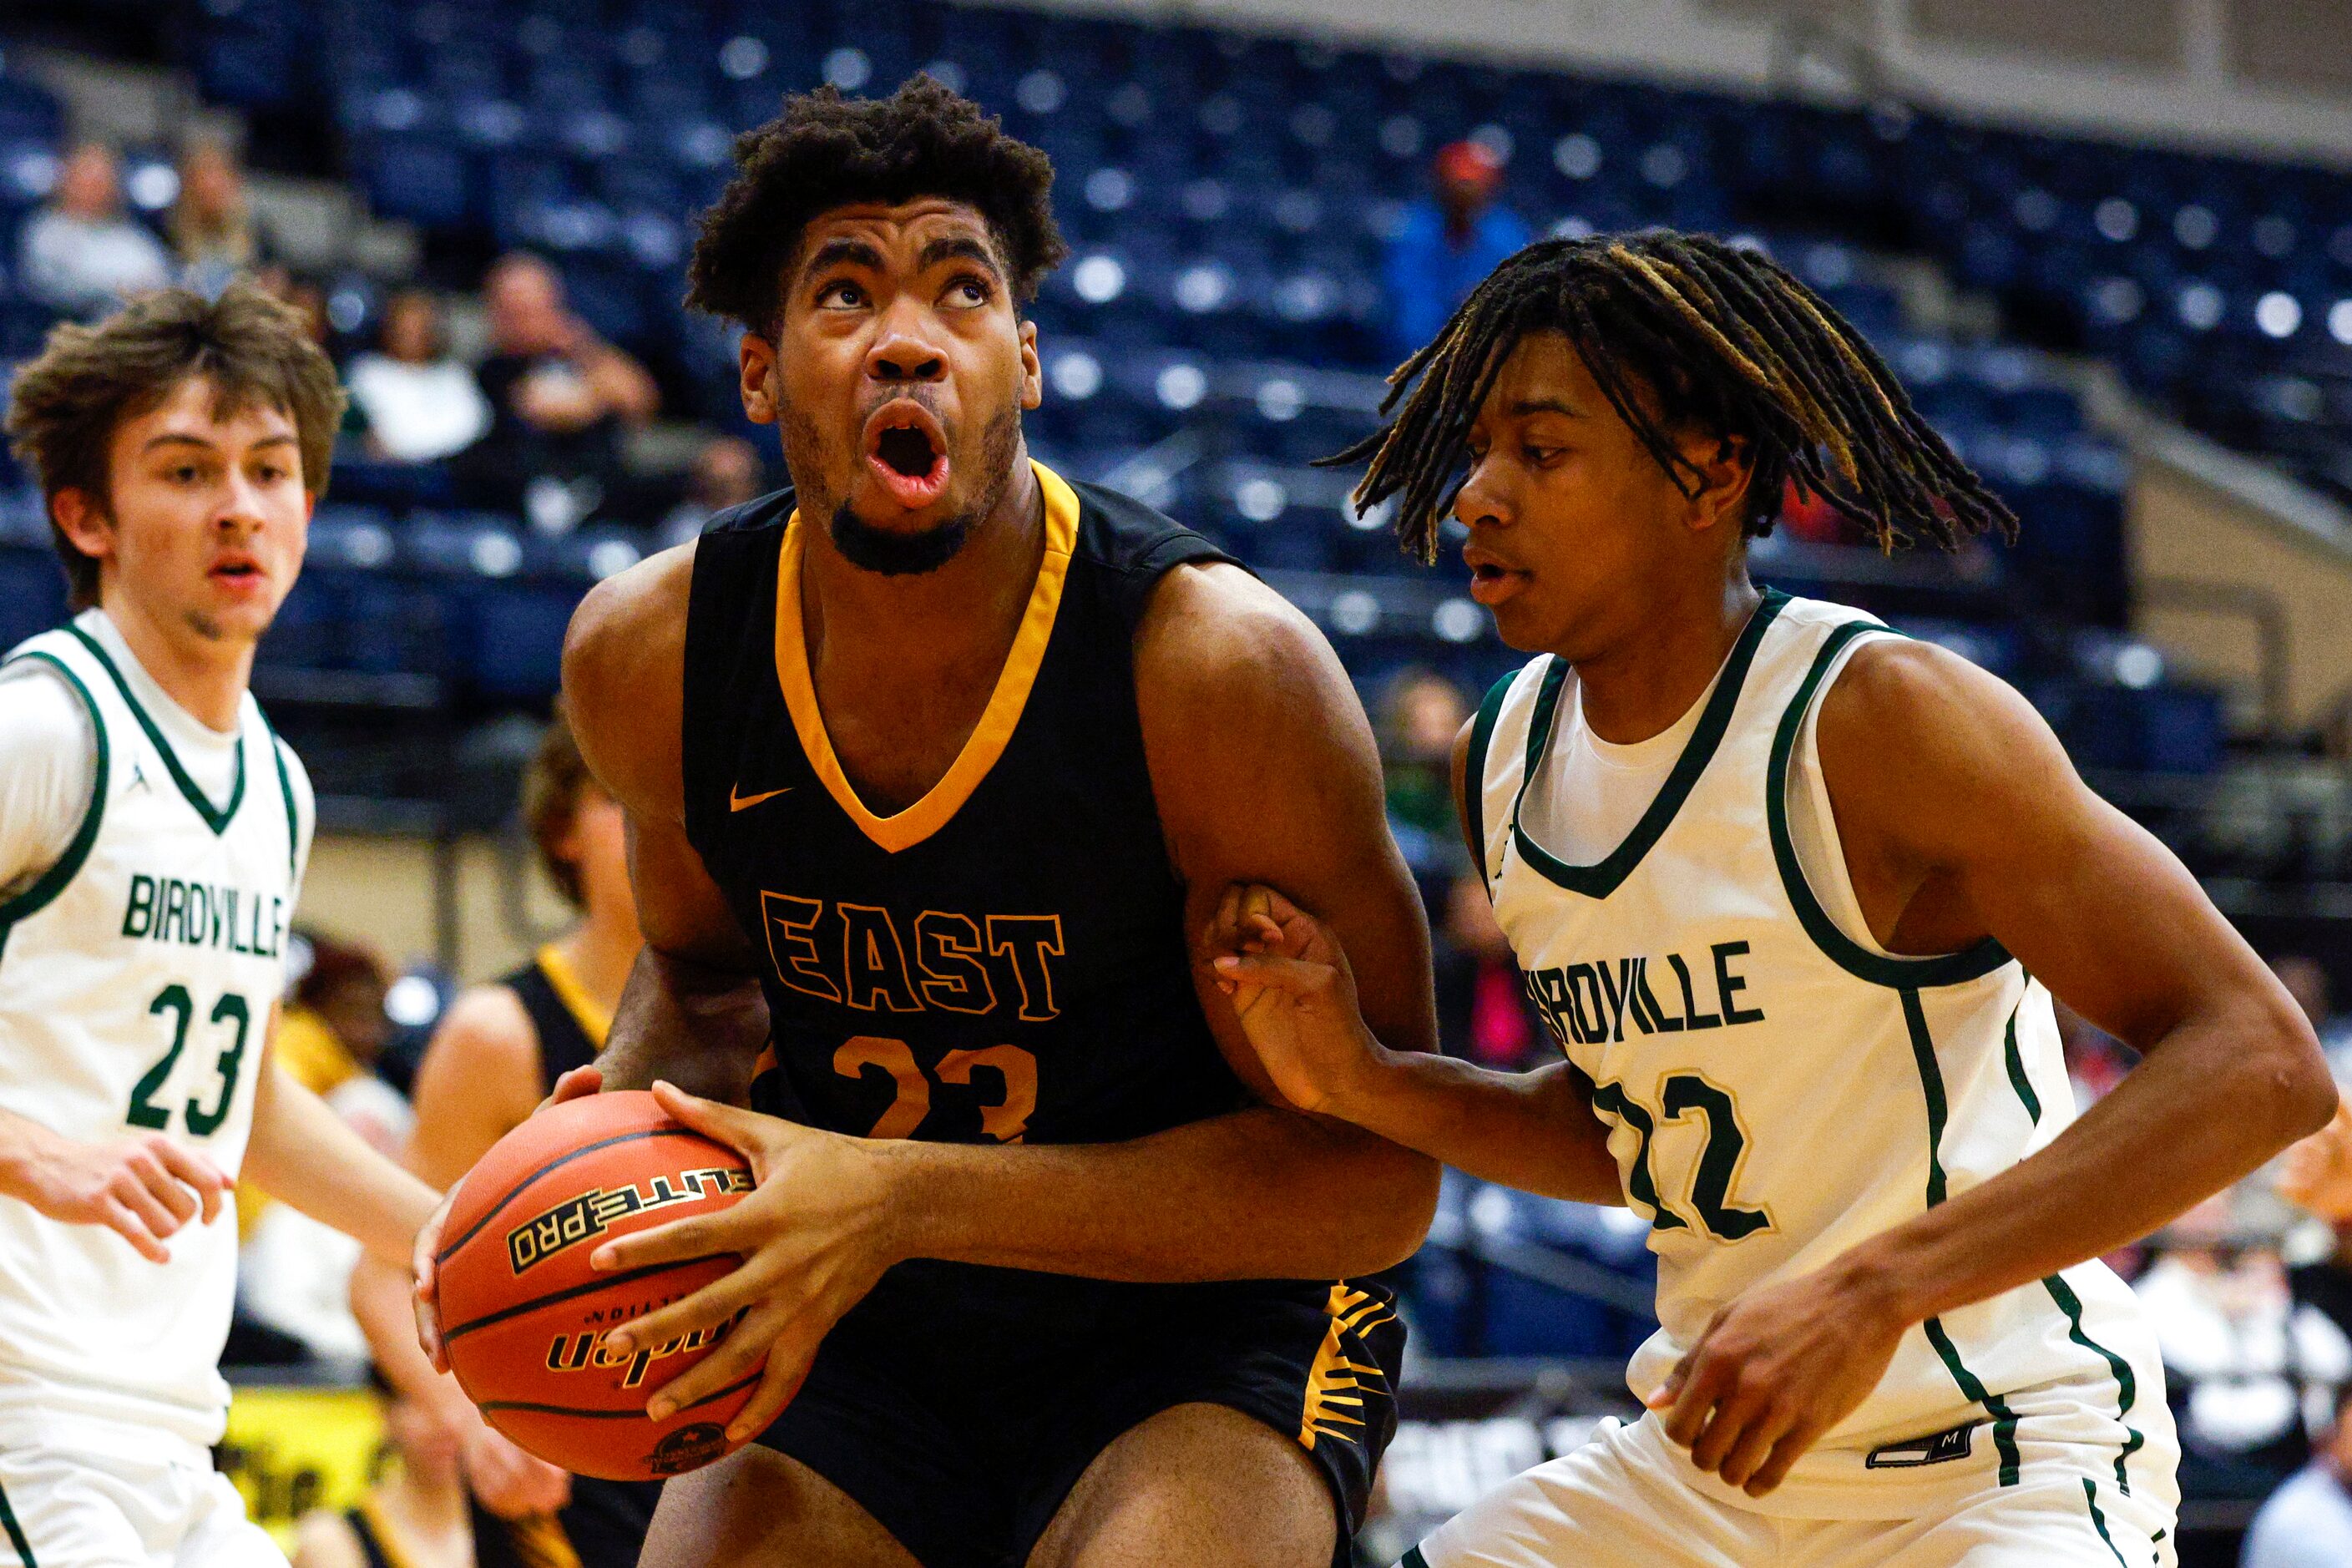
[{"label": "orange Elite Pro basketball held in the East player's hands", "polygon": [[668,1420],[644,1401],[727,1328],[614,1356],[604,1333],[736,1267],[734,1255],[597,1272],[612,1237],[715,1213],[753,1190],[727,1145],[642,1091],[553,1105],[482,1157],[456,1190],[440,1253],[449,1371],[492,1427],[581,1476],[652,1481],[736,1448],[727,1422],[757,1371]]}]

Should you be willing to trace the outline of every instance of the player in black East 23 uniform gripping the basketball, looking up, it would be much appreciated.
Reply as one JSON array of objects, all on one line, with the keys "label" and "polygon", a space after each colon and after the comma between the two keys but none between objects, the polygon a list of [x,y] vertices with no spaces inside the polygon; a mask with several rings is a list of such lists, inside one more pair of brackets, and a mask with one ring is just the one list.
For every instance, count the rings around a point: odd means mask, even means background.
[{"label": "player in black East 23 uniform gripping the basketball, looking up", "polygon": [[1362,708],[1209,541],[1030,463],[1037,150],[917,80],[736,155],[691,299],[795,489],[597,588],[564,658],[649,943],[602,1081],[699,1088],[659,1093],[760,1175],[593,1255],[743,1258],[614,1331],[743,1314],[656,1413],[760,1380],[644,1561],[1345,1563],[1402,1349],[1362,1276],[1437,1171],[1284,1107],[1188,933],[1294,889],[1432,1044]]}]

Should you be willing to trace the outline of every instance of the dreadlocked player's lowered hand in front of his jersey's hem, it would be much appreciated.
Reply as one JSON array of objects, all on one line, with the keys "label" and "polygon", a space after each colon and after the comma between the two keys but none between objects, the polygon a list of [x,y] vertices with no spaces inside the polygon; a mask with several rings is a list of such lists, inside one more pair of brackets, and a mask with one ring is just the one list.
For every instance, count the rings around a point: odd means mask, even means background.
[{"label": "dreadlocked player's lowered hand in front of his jersey's hem", "polygon": [[1865,1279],[1835,1265],[1764,1286],[1715,1314],[1649,1408],[1693,1465],[1762,1497],[1860,1408],[1905,1326]]}]

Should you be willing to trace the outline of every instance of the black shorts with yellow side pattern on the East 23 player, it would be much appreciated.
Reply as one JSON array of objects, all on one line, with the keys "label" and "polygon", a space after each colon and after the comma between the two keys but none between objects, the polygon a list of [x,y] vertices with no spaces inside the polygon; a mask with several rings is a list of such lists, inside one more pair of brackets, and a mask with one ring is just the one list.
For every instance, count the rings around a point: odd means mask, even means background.
[{"label": "black shorts with yellow side pattern on the East 23 player", "polygon": [[1376,1284],[1134,1286],[908,1262],[826,1338],[760,1441],[924,1568],[1021,1568],[1122,1432],[1218,1403],[1305,1448],[1350,1561],[1397,1432],[1404,1324]]}]

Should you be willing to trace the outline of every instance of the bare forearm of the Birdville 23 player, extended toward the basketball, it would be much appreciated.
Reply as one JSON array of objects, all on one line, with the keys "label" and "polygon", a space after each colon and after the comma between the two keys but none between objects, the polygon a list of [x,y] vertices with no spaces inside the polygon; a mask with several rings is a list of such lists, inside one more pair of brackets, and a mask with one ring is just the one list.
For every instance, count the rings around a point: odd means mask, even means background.
[{"label": "bare forearm of the Birdville 23 player, extended toward the basketball", "polygon": [[275,1060],[263,1067],[254,1103],[245,1178],[395,1265],[407,1262],[437,1201]]}]

